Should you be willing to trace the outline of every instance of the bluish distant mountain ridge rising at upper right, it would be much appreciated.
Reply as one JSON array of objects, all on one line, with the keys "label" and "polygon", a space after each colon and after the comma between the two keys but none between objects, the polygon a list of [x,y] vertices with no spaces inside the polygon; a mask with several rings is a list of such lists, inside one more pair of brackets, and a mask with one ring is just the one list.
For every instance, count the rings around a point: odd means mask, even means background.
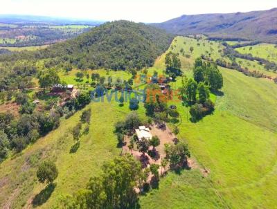
[{"label": "bluish distant mountain ridge rising at upper right", "polygon": [[177,35],[201,33],[223,39],[277,43],[277,8],[229,14],[182,15],[151,25]]}]

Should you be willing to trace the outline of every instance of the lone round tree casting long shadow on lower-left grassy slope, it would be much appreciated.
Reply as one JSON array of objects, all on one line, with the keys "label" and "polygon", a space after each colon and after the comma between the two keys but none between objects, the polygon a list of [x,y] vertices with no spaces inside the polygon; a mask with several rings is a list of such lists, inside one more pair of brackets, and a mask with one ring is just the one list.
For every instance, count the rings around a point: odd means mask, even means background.
[{"label": "lone round tree casting long shadow on lower-left grassy slope", "polygon": [[44,161],[37,170],[37,179],[40,183],[53,183],[57,179],[57,167],[52,161]]}]

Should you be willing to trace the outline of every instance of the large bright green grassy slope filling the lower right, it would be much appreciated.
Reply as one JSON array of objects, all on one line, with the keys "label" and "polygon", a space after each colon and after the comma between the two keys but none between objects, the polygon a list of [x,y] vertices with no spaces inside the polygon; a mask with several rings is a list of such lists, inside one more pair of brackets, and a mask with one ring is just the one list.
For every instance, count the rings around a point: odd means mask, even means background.
[{"label": "large bright green grassy slope filling the lower right", "polygon": [[[178,37],[177,43],[183,43],[184,39]],[[180,46],[177,44],[177,47]],[[179,48],[172,51],[177,52]],[[197,56],[197,50],[191,57],[194,56]],[[180,58],[183,63],[193,61]],[[161,56],[156,64],[161,68],[163,62]],[[275,207],[276,84],[229,69],[221,71],[224,94],[217,96],[216,111],[212,116],[193,124],[188,120],[188,109],[177,104],[182,118],[179,137],[188,143],[197,161],[211,172],[207,179],[210,185],[202,188],[198,182],[188,183],[191,173],[172,173],[162,179],[159,190],[141,198],[143,208],[199,208],[202,203],[206,208]],[[188,69],[184,72],[191,76]],[[193,179],[197,179],[197,174],[193,174]],[[211,190],[217,194],[217,199],[211,196],[205,202]],[[197,196],[199,193],[193,194],[195,191],[203,193]],[[190,197],[199,199],[195,201]]]}]

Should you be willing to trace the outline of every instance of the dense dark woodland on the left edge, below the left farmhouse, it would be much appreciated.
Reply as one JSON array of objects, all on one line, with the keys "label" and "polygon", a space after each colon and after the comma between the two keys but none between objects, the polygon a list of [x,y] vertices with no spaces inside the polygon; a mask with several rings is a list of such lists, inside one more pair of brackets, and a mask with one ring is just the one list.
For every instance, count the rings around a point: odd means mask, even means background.
[{"label": "dense dark woodland on the left edge, below the left farmhouse", "polygon": [[[35,143],[40,136],[59,127],[62,116],[71,116],[76,110],[89,104],[91,98],[89,93],[80,93],[67,101],[63,108],[58,107],[54,100],[55,104],[44,111],[37,111],[35,104],[30,102],[25,93],[18,93],[15,101],[21,104],[19,118],[10,113],[0,113],[0,162],[7,158],[8,150],[21,152],[29,143]],[[89,123],[89,116],[88,109],[82,114],[81,121]]]}]

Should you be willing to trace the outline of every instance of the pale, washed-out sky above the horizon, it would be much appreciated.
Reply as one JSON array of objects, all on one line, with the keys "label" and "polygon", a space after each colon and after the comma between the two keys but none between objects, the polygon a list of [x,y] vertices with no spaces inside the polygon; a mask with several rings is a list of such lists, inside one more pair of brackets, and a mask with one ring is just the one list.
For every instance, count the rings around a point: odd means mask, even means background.
[{"label": "pale, washed-out sky above the horizon", "polygon": [[161,22],[181,15],[274,7],[277,7],[276,0],[1,0],[0,14]]}]

